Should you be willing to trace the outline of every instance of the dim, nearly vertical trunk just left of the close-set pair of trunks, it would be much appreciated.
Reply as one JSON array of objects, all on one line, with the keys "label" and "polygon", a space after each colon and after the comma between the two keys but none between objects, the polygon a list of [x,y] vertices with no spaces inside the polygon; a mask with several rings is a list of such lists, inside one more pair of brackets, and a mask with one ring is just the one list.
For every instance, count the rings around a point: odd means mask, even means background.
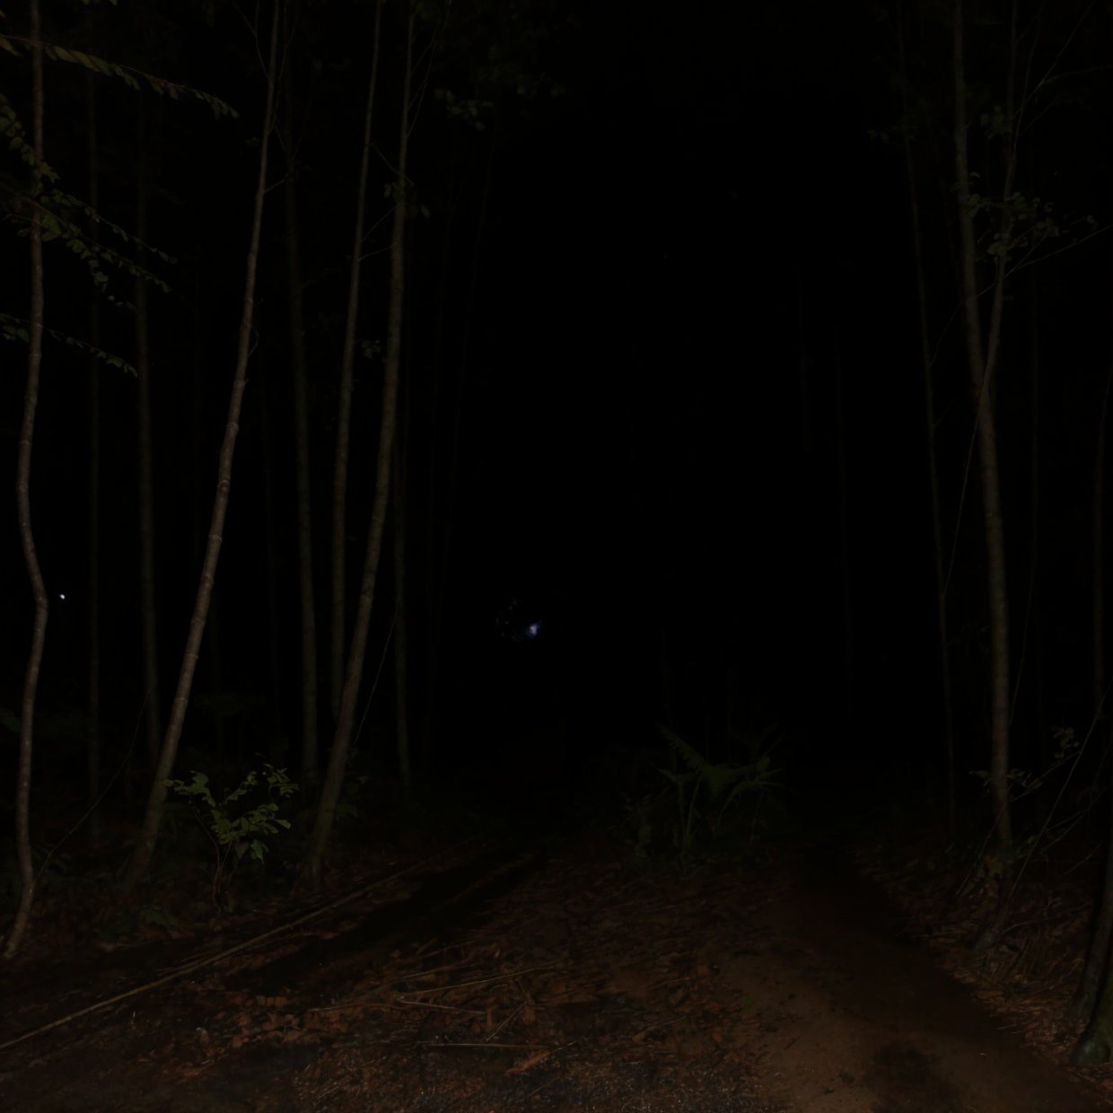
[{"label": "dim, nearly vertical trunk just left of the close-set pair of trunks", "polygon": [[[293,110],[286,80],[287,118]],[[287,134],[293,158],[293,135]],[[294,483],[297,514],[297,582],[302,611],[302,784],[315,790],[321,779],[317,757],[317,612],[313,585],[313,498],[309,484],[309,392],[305,363],[305,313],[297,220],[296,168],[286,175],[286,286],[289,298],[289,346],[294,380]]]}]

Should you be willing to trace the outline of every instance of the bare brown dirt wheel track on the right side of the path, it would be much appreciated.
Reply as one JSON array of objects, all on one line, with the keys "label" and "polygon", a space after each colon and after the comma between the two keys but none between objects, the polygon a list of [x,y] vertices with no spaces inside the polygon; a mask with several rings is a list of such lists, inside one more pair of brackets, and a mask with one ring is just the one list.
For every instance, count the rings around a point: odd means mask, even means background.
[{"label": "bare brown dirt wheel track on the right side of the path", "polygon": [[902,939],[895,906],[834,854],[791,854],[777,889],[769,942],[731,973],[761,1021],[764,1086],[792,1113],[1109,1107]]}]

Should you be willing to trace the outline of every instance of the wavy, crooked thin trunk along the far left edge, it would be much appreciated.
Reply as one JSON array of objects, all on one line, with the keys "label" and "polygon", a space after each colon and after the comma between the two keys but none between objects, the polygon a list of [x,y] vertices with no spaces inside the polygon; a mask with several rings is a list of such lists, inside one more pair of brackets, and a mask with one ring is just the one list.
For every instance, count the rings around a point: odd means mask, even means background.
[{"label": "wavy, crooked thin trunk along the far left edge", "polygon": [[42,79],[42,28],[39,0],[30,3],[31,31],[31,148],[35,165],[31,167],[31,318],[27,343],[27,386],[23,391],[23,416],[19,427],[19,447],[16,460],[16,504],[19,520],[19,539],[27,564],[27,578],[35,595],[35,626],[31,649],[23,676],[23,700],[19,720],[19,768],[16,776],[16,857],[19,863],[19,906],[4,943],[3,957],[11,958],[31,918],[35,904],[35,865],[31,860],[31,757],[35,740],[35,700],[39,688],[39,669],[47,641],[47,618],[50,604],[47,585],[39,568],[31,525],[31,446],[35,442],[35,411],[39,404],[39,375],[42,370],[42,329],[45,315],[45,284],[42,279],[42,214],[39,197],[42,193],[45,89]]}]

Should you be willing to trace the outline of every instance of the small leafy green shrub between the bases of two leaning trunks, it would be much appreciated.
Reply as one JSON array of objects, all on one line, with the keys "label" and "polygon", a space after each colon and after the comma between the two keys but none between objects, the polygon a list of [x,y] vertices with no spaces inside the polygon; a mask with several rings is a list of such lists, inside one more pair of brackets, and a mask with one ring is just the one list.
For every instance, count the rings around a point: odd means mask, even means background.
[{"label": "small leafy green shrub between the bases of two leaning trunks", "polygon": [[[276,769],[273,765],[263,766],[262,779],[252,770],[237,788],[219,800],[213,795],[208,775],[204,772],[195,770],[190,781],[167,780],[164,784],[193,806],[213,844],[216,856],[213,904],[219,908],[233,874],[244,858],[257,863],[265,860],[268,846],[260,836],[277,835],[279,828],[289,829],[289,820],[280,818],[278,811],[282,802],[297,791],[297,784],[289,779],[285,769]],[[267,792],[265,800],[254,807],[240,802],[263,785]]]}]

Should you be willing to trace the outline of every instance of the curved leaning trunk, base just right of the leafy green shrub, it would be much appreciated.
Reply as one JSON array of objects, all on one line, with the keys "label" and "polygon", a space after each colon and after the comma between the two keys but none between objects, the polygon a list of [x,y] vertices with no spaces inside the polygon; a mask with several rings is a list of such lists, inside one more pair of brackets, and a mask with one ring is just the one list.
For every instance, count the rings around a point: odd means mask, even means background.
[{"label": "curved leaning trunk, base just right of the leafy green shrub", "polygon": [[375,499],[372,505],[371,524],[367,529],[367,549],[363,565],[363,581],[359,588],[359,607],[356,612],[355,631],[348,653],[347,673],[341,696],[341,713],[336,720],[336,733],[328,755],[328,770],[321,789],[309,853],[305,864],[305,879],[312,888],[321,885],[321,870],[325,846],[332,834],[336,818],[336,804],[344,785],[348,751],[355,733],[355,709],[359,698],[359,682],[363,678],[363,662],[367,649],[367,632],[371,629],[371,610],[375,600],[375,582],[378,575],[383,534],[386,529],[386,505],[391,492],[391,461],[394,454],[395,417],[398,404],[398,366],[402,349],[402,309],[405,293],[405,232],[408,183],[406,180],[406,155],[410,141],[410,90],[413,77],[413,29],[411,16],[406,27],[406,66],[402,88],[402,110],[398,139],[398,174],[394,197],[394,234],[391,240],[391,293],[387,307],[386,358],[383,367],[383,413],[378,434],[378,454],[375,462]]}]

